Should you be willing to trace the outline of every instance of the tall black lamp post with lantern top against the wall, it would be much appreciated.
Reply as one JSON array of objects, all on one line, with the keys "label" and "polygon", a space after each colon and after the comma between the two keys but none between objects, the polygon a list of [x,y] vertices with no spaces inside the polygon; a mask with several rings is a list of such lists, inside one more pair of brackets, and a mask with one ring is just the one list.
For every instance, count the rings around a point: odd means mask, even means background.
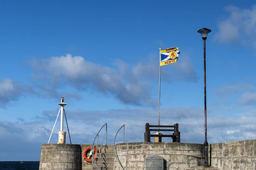
[{"label": "tall black lamp post with lantern top against the wall", "polygon": [[206,108],[206,71],[205,71],[205,40],[207,39],[207,34],[211,32],[211,29],[202,28],[197,31],[201,34],[202,39],[204,39],[204,133],[205,133],[205,141],[204,141],[204,157],[205,164],[204,166],[209,166],[208,162],[208,142],[207,142],[207,108]]}]

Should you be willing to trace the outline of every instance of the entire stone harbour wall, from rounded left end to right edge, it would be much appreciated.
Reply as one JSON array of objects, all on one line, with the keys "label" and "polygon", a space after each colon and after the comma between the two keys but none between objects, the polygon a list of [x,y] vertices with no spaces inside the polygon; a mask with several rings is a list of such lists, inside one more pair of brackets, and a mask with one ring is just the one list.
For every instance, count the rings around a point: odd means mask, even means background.
[{"label": "entire stone harbour wall, from rounded left end to right edge", "polygon": [[[91,164],[84,162],[81,156],[87,146],[90,145],[43,144],[40,170],[92,169]],[[164,169],[168,170],[204,166],[204,144],[120,143],[116,145],[116,150],[127,170],[145,169],[146,157],[153,154],[163,157]],[[221,170],[256,170],[256,139],[209,145],[209,163]],[[116,158],[113,169],[121,169]]]}]

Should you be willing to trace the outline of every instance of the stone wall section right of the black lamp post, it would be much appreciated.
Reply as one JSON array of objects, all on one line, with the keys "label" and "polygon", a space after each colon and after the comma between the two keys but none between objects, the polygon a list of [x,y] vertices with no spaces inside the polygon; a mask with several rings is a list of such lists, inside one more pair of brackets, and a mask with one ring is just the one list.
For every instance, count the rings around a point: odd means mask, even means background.
[{"label": "stone wall section right of the black lamp post", "polygon": [[256,169],[256,139],[209,145],[211,166],[222,170]]}]

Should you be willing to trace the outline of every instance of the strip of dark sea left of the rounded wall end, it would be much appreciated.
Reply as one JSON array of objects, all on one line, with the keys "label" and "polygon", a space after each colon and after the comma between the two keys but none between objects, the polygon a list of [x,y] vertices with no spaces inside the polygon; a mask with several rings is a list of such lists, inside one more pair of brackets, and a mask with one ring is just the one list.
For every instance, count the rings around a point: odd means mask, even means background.
[{"label": "strip of dark sea left of the rounded wall end", "polygon": [[38,170],[39,161],[0,161],[0,170]]}]

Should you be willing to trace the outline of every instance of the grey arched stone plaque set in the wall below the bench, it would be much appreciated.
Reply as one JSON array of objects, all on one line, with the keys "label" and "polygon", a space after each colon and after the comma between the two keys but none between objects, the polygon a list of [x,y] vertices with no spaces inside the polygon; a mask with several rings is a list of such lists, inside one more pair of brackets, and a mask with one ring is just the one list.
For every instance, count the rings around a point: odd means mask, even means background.
[{"label": "grey arched stone plaque set in the wall below the bench", "polygon": [[164,159],[159,155],[149,155],[146,158],[146,170],[163,170]]}]

